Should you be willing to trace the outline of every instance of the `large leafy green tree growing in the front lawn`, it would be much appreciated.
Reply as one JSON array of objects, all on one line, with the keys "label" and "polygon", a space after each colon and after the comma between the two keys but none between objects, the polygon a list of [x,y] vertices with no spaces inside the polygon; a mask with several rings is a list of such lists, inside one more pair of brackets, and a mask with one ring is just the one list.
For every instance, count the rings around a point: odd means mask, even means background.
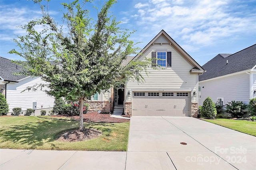
[{"label": "large leafy green tree growing in the front lawn", "polygon": [[[47,0],[48,1],[48,0]],[[34,0],[40,4],[41,0]],[[116,0],[108,0],[98,12],[98,18],[89,17],[89,11],[78,0],[63,3],[64,24],[58,25],[41,5],[42,18],[21,26],[27,35],[14,39],[20,50],[15,53],[22,62],[23,74],[40,76],[46,84],[28,87],[28,90],[48,86],[47,93],[56,98],[80,102],[80,131],[83,130],[83,101],[101,90],[118,87],[129,79],[144,81],[149,61],[122,62],[136,54],[136,43],[129,39],[133,33],[118,27],[120,22],[110,15]],[[67,29],[64,29],[67,28]],[[54,63],[52,62],[54,61]]]}]

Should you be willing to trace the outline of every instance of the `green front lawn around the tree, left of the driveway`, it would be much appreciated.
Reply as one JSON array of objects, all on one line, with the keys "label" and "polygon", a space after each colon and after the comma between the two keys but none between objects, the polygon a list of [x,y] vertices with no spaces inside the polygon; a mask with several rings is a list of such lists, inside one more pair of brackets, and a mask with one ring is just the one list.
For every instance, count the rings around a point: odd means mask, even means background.
[{"label": "green front lawn around the tree, left of the driveway", "polygon": [[126,151],[130,123],[84,123],[85,128],[102,131],[88,141],[59,142],[58,135],[78,129],[78,121],[45,119],[34,116],[0,117],[0,148],[40,150]]}]

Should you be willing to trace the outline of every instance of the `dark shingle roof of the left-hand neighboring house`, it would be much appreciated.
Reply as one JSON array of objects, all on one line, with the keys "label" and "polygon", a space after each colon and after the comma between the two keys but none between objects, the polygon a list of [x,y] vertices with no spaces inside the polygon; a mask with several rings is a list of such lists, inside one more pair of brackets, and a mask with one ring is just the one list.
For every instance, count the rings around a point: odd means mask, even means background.
[{"label": "dark shingle roof of the left-hand neighboring house", "polygon": [[20,72],[21,66],[12,63],[11,60],[0,57],[0,77],[2,80],[18,82],[18,80],[28,77],[25,75],[14,75],[12,73]]}]

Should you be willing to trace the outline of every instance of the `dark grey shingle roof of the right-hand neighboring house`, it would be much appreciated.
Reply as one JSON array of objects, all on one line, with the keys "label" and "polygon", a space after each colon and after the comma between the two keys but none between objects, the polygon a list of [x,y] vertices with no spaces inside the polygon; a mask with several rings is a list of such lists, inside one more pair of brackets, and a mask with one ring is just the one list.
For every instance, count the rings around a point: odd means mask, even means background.
[{"label": "dark grey shingle roof of the right-hand neighboring house", "polygon": [[244,70],[251,70],[255,65],[256,44],[232,55],[216,55],[216,57],[203,65],[206,72],[199,76],[199,81],[216,78],[219,76],[224,76]]}]

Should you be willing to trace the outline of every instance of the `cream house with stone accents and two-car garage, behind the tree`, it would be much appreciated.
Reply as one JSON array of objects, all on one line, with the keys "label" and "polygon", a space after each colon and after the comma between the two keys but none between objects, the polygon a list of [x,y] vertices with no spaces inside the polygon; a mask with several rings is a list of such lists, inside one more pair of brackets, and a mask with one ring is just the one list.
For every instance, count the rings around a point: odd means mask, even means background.
[{"label": "cream house with stone accents and two-car garage, behind the tree", "polygon": [[[164,30],[132,60],[154,58],[158,69],[148,68],[145,82],[129,81],[110,93],[97,94],[94,99],[105,108],[123,108],[130,115],[192,116],[198,113],[198,75],[204,69],[186,53]],[[126,62],[129,62],[131,57]],[[155,65],[154,65],[155,66]],[[102,96],[99,96],[102,95]],[[104,97],[106,96],[106,97]],[[93,102],[93,100],[92,100]],[[90,110],[100,109],[90,102]],[[108,103],[108,104],[107,104]],[[108,105],[108,106],[106,106]],[[92,109],[93,108],[93,109]]]}]

